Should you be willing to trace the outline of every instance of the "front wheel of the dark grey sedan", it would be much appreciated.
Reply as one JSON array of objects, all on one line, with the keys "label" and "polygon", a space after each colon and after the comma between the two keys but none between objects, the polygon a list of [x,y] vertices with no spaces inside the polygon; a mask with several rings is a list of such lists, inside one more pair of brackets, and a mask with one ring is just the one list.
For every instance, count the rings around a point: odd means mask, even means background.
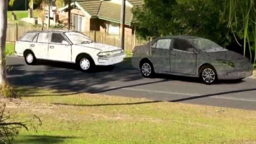
[{"label": "front wheel of the dark grey sedan", "polygon": [[216,70],[210,65],[205,65],[201,68],[200,78],[206,85],[212,85],[218,80]]}]

